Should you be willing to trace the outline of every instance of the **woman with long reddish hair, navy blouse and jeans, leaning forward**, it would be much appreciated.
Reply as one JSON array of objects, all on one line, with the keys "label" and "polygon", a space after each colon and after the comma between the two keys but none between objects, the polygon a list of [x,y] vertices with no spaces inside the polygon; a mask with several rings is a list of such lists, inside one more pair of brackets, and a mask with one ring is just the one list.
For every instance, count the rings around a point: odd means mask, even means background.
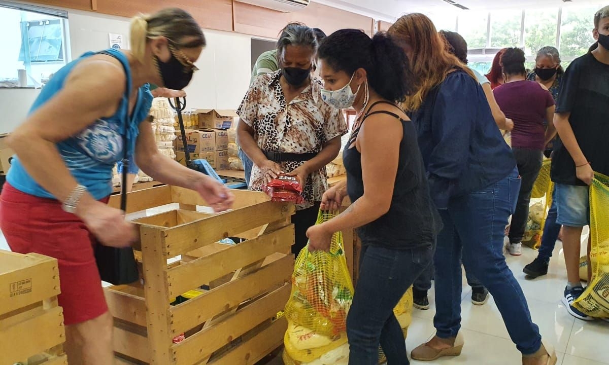
[{"label": "woman with long reddish hair, navy blouse and jeans, leaning forward", "polygon": [[[493,120],[474,74],[449,54],[432,21],[423,14],[402,16],[389,34],[409,57],[415,92],[404,107],[412,111],[429,189],[444,228],[434,255],[436,335],[412,351],[433,361],[460,355],[463,265],[493,295],[524,365],[554,365],[554,350],[541,343],[523,291],[505,263],[504,228],[520,187],[516,162]],[[498,362],[498,361],[497,361]]]}]

